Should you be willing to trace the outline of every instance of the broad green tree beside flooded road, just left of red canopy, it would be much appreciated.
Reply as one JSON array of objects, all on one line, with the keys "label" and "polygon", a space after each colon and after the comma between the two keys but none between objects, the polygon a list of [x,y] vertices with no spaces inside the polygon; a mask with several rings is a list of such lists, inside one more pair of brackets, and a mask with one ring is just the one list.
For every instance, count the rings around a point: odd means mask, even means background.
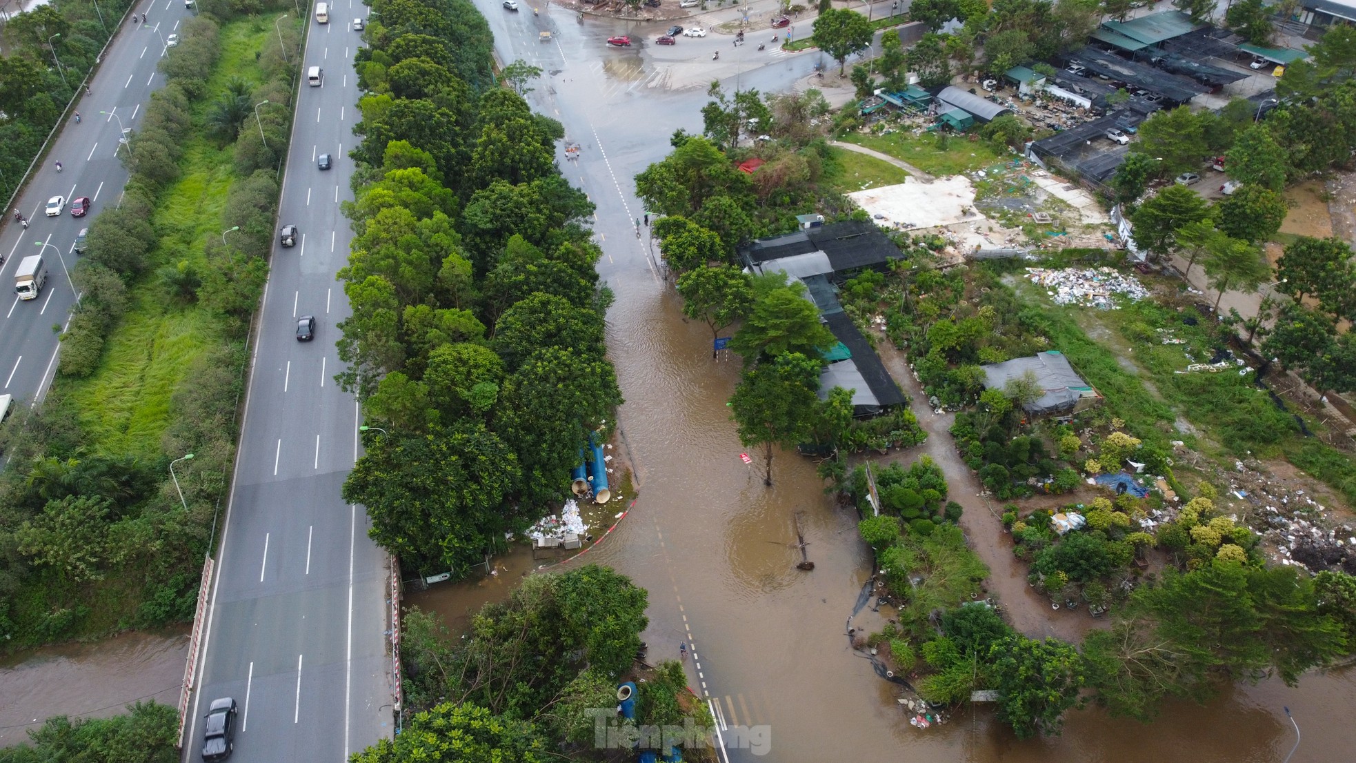
[{"label": "broad green tree beside flooded road, just left of red canopy", "polygon": [[636,194],[645,209],[663,215],[693,217],[712,197],[739,201],[749,191],[749,176],[701,137],[689,137],[663,161],[636,175]]}]

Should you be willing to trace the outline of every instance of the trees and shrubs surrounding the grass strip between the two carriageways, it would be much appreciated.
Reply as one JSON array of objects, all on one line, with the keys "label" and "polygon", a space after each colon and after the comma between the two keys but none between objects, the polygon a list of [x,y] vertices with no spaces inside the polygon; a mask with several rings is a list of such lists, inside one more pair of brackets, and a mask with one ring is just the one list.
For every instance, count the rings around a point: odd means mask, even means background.
[{"label": "trees and shrubs surrounding the grass strip between the two carriageways", "polygon": [[[209,241],[210,256],[201,267],[188,252],[161,249],[165,232],[156,225],[157,205],[180,178],[184,146],[210,127],[195,104],[209,98],[218,23],[233,20],[232,7],[213,7],[228,15],[214,18],[202,8],[180,27],[180,46],[161,60],[168,83],[151,96],[130,136],[133,153],[119,152],[130,169],[121,203],[89,224],[89,248],[72,272],[81,301],[61,336],[61,384],[33,416],[11,419],[9,468],[0,474],[5,649],[77,633],[96,600],[126,607],[102,611],[104,627],[149,627],[193,614],[213,511],[235,457],[244,335],[267,272],[278,201],[271,169],[279,156],[263,150],[258,131],[248,130],[235,142],[237,179],[225,199],[228,220],[241,226],[231,247]],[[296,34],[289,30],[283,38],[294,53]],[[237,98],[277,104],[262,112],[262,123],[271,145],[285,146],[297,68],[273,45],[260,51],[258,72],[262,81],[235,80],[231,88]],[[229,134],[217,140],[231,145]],[[69,379],[89,377],[103,363],[107,336],[133,304],[134,289],[165,294],[165,310],[207,310],[222,339],[184,369],[193,384],[170,400],[160,450],[152,455],[91,442],[80,419],[87,412],[64,397],[75,384]],[[194,459],[180,463],[178,477],[187,515],[167,469],[186,453]],[[110,587],[119,595],[102,594]]]}]

